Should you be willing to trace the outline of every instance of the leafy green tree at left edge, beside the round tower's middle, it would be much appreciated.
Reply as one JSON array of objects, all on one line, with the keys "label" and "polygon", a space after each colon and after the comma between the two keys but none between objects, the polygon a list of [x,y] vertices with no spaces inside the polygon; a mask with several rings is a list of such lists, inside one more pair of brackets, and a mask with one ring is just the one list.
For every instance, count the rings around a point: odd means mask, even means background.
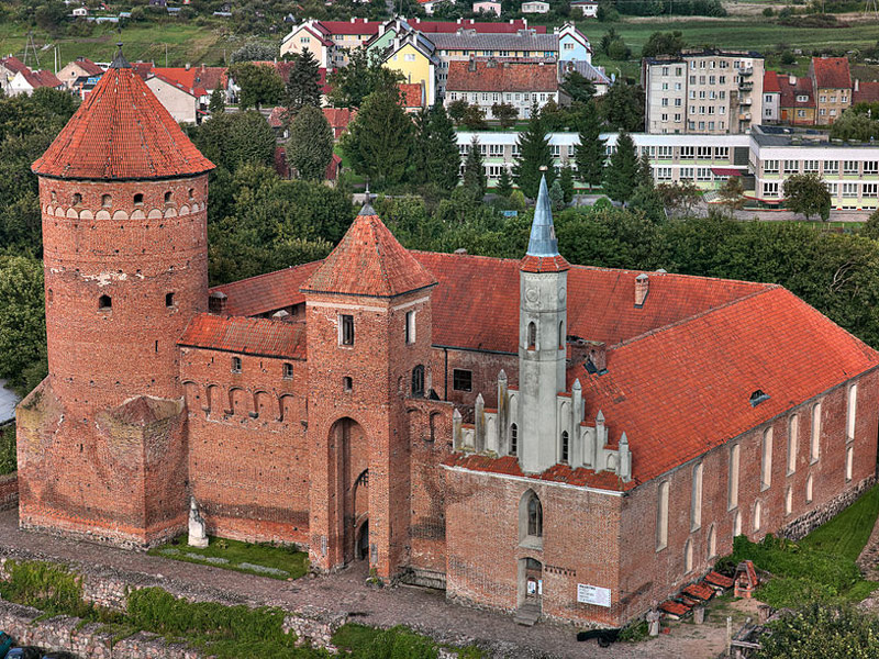
[{"label": "leafy green tree at left edge, beside the round tower's middle", "polygon": [[[46,323],[43,264],[20,256],[0,258],[0,378],[31,387],[25,371],[45,372]],[[38,382],[38,380],[37,380]]]}]

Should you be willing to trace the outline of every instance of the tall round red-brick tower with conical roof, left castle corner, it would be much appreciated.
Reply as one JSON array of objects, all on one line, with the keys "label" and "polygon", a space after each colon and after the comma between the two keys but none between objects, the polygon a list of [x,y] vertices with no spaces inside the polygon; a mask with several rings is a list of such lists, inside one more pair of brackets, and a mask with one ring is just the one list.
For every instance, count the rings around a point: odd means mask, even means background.
[{"label": "tall round red-brick tower with conical roof, left castle corner", "polygon": [[22,525],[145,545],[185,521],[176,342],[207,310],[212,168],[121,51],[34,163],[49,375],[20,414]]}]

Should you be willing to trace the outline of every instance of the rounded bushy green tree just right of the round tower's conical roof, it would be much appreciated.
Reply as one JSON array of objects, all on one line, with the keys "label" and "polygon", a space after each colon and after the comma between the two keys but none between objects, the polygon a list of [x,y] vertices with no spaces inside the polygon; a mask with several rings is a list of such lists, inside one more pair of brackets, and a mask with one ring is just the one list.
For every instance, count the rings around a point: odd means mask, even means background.
[{"label": "rounded bushy green tree just right of the round tower's conical roof", "polygon": [[256,110],[213,115],[190,137],[215,165],[232,172],[247,163],[269,165],[275,155],[275,133]]}]

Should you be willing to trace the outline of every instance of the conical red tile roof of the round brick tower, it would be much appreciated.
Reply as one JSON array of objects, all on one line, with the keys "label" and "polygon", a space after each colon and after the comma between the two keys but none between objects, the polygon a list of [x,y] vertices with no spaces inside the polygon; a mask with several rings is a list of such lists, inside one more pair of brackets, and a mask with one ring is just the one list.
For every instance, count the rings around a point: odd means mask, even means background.
[{"label": "conical red tile roof of the round brick tower", "polygon": [[119,52],[31,169],[63,179],[127,180],[213,169]]}]

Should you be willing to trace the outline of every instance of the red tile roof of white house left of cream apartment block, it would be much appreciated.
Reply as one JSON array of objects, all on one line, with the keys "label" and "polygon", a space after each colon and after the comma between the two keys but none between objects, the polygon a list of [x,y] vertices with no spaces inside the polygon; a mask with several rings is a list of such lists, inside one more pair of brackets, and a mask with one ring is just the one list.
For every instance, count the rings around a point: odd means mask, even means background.
[{"label": "red tile roof of white house left of cream apartment block", "polygon": [[[470,70],[475,67],[476,70]],[[558,90],[555,65],[535,62],[476,59],[449,62],[448,91],[543,91]]]}]

